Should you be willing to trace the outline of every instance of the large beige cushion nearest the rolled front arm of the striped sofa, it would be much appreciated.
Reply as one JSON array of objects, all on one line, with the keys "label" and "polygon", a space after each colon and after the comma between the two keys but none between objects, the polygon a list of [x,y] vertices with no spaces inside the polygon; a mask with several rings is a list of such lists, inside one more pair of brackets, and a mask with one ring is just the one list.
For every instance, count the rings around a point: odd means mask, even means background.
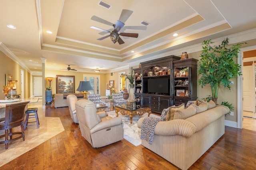
[{"label": "large beige cushion nearest the rolled front arm of the striped sofa", "polygon": [[187,109],[176,110],[173,119],[187,119],[190,116],[196,115],[196,105],[192,104]]}]

